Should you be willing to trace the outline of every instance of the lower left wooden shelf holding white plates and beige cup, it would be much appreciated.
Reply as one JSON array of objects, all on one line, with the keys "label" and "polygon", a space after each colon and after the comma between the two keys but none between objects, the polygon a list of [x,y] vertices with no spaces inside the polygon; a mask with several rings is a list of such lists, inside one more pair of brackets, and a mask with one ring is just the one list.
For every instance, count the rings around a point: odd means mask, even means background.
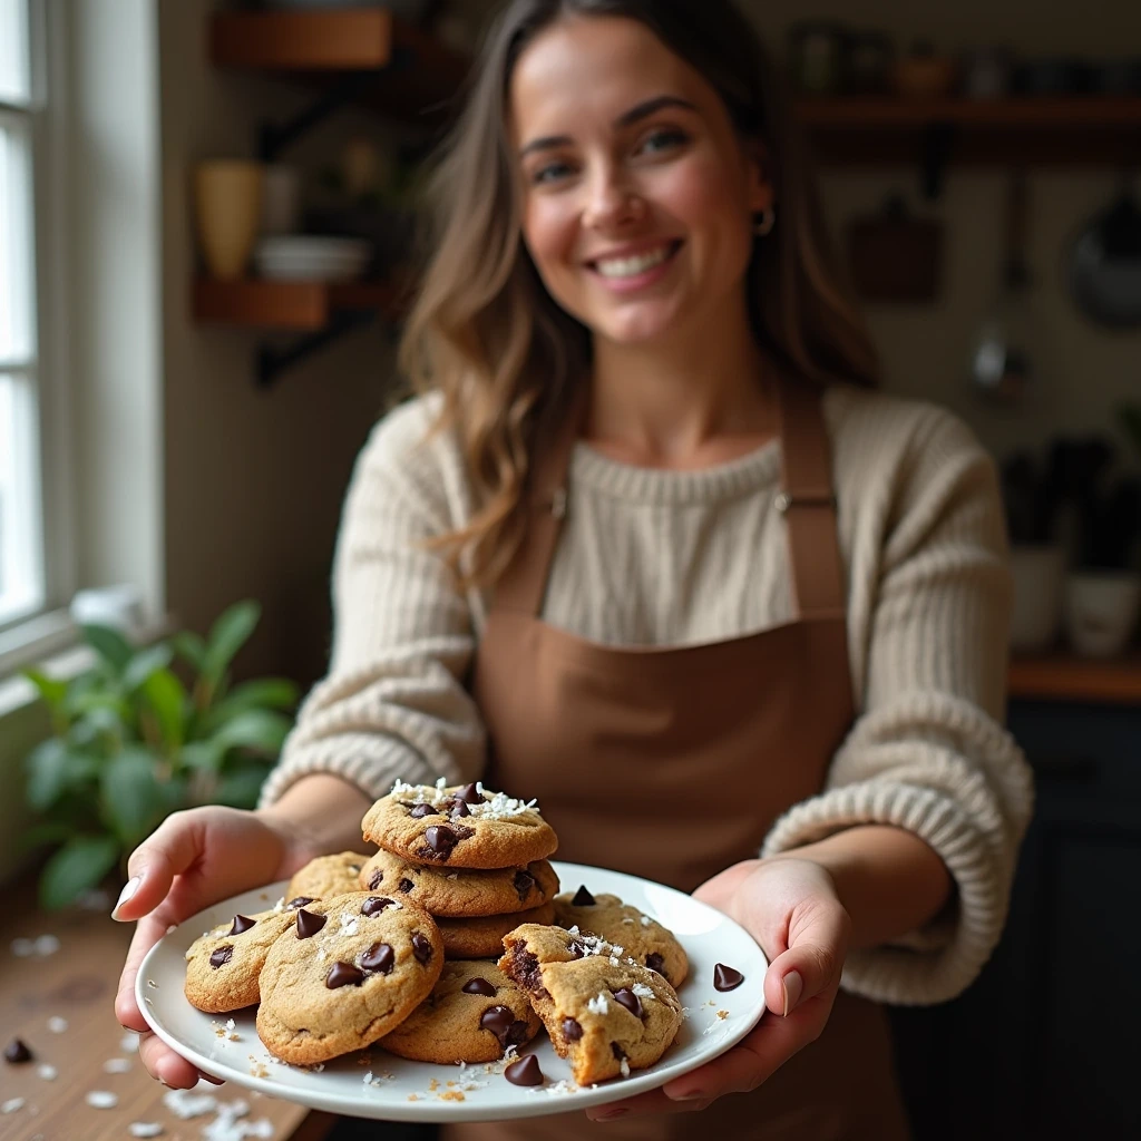
[{"label": "lower left wooden shelf holding white plates and beige cup", "polygon": [[400,314],[400,291],[390,282],[278,282],[246,277],[194,283],[194,319],[200,324],[242,325],[316,332],[338,311]]}]

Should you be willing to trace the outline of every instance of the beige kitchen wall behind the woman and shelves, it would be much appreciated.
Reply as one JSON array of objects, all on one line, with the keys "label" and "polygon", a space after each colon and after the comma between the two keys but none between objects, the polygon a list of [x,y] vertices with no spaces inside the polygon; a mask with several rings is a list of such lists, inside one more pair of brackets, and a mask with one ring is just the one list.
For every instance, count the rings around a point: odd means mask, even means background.
[{"label": "beige kitchen wall behind the woman and shelves", "polygon": [[[485,6],[486,7],[486,6]],[[905,5],[887,0],[747,3],[770,43],[811,11],[913,34],[940,48],[1008,40],[1025,51],[1118,55],[1141,46],[1141,5],[1059,6],[1051,19],[1029,0]],[[324,665],[327,569],[345,485],[390,373],[378,330],[351,334],[289,373],[272,393],[254,390],[245,330],[201,329],[189,319],[193,243],[187,177],[200,157],[251,153],[259,112],[282,114],[299,95],[289,86],[212,72],[205,62],[208,0],[161,5],[163,340],[165,362],[167,597],[202,629],[230,601],[254,597],[266,618],[248,670],[284,670],[304,680]],[[339,118],[335,140],[375,121]],[[300,154],[316,153],[315,138]],[[873,307],[887,386],[958,410],[996,453],[1065,426],[1098,428],[1122,397],[1141,396],[1141,337],[1107,337],[1083,324],[1062,296],[1060,250],[1067,235],[1114,189],[1111,171],[1041,172],[1031,185],[1030,261],[1042,274],[1050,377],[1013,412],[978,405],[962,380],[964,346],[997,283],[1004,183],[1001,172],[950,172],[934,205],[917,195],[916,171],[831,173],[824,195],[834,227],[873,209],[891,188],[947,226],[945,294],[934,307]]]}]

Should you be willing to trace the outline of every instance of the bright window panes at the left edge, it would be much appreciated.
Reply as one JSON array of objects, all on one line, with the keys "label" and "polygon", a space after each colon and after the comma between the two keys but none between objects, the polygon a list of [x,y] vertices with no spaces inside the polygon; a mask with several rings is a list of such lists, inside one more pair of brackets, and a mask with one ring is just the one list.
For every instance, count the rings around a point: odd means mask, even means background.
[{"label": "bright window panes at the left edge", "polygon": [[42,98],[29,0],[0,0],[0,628],[46,600],[33,217]]}]

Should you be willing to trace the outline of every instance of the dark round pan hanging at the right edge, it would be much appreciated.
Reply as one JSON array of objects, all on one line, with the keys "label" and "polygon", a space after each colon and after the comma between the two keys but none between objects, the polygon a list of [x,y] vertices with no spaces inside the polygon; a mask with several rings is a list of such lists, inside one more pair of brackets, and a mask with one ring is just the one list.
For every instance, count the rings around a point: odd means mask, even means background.
[{"label": "dark round pan hanging at the right edge", "polygon": [[1074,241],[1066,276],[1091,321],[1108,329],[1141,325],[1141,208],[1127,183]]}]

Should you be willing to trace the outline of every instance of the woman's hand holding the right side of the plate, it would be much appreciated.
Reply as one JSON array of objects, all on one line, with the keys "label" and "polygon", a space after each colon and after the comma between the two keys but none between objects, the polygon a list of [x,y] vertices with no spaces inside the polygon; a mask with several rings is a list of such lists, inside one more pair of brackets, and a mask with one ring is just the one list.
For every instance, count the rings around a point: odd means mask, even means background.
[{"label": "woman's hand holding the right side of the plate", "polygon": [[766,1013],[742,1042],[712,1062],[659,1090],[588,1110],[594,1120],[698,1110],[722,1094],[755,1090],[815,1042],[828,1021],[851,930],[828,872],[793,856],[745,860],[702,884],[694,896],[735,919],[763,948],[769,960]]}]

